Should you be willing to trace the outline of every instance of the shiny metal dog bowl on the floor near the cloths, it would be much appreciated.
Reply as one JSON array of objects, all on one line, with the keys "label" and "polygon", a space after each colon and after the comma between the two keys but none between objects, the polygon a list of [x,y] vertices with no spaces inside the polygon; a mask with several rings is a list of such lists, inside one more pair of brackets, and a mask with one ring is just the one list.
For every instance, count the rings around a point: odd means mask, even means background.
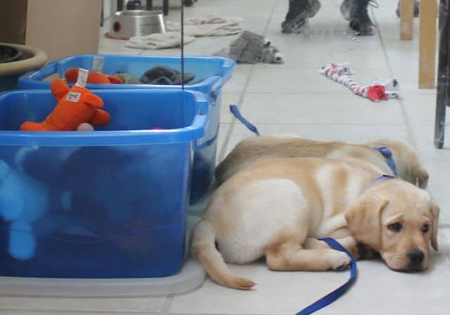
[{"label": "shiny metal dog bowl on the floor near the cloths", "polygon": [[130,10],[119,11],[113,15],[110,31],[105,36],[113,39],[129,39],[164,32],[165,22],[162,13]]}]

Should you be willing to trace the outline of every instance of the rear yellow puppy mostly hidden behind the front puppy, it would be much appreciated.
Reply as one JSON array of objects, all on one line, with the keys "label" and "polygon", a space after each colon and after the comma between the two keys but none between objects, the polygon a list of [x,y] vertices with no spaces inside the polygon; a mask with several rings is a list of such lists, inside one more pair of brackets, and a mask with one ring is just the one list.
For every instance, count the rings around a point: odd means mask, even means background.
[{"label": "rear yellow puppy mostly hidden behind the front puppy", "polygon": [[398,176],[420,188],[428,184],[428,172],[420,165],[416,153],[400,141],[379,140],[366,144],[340,141],[311,141],[297,136],[253,136],[229,153],[215,170],[217,185],[257,162],[273,158],[359,158],[375,165],[385,174],[394,175],[387,159],[375,146],[390,148]]}]

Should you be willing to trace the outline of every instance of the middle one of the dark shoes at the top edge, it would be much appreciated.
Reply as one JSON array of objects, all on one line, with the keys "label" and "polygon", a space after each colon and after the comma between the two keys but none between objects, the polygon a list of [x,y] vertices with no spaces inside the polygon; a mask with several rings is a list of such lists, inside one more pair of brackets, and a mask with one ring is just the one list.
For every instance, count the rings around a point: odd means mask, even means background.
[{"label": "middle one of the dark shoes at the top edge", "polygon": [[367,12],[369,5],[378,8],[373,0],[344,0],[340,6],[342,16],[350,22],[349,27],[361,36],[375,33],[375,25]]}]

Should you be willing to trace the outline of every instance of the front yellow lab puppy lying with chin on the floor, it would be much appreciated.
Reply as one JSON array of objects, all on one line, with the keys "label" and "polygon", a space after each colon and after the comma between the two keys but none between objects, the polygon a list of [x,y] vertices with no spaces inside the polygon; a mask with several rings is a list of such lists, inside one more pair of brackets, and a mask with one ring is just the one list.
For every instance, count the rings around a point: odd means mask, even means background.
[{"label": "front yellow lab puppy lying with chin on the floor", "polygon": [[272,270],[344,269],[349,257],[317,238],[359,243],[398,271],[422,271],[437,250],[439,208],[430,195],[358,159],[274,159],[239,172],[212,196],[193,231],[193,255],[221,285],[248,289],[226,262],[266,257]]}]

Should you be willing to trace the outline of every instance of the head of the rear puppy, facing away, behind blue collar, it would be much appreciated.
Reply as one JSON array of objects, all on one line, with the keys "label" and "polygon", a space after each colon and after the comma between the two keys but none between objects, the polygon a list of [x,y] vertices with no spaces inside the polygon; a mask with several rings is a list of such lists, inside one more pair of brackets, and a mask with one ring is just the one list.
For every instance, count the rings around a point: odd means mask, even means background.
[{"label": "head of the rear puppy, facing away, behind blue collar", "polygon": [[386,146],[387,148],[390,148],[392,151],[392,158],[394,158],[397,166],[399,177],[420,188],[427,188],[428,172],[420,164],[418,156],[411,146],[401,141],[389,139],[381,139],[369,144],[371,146]]}]

